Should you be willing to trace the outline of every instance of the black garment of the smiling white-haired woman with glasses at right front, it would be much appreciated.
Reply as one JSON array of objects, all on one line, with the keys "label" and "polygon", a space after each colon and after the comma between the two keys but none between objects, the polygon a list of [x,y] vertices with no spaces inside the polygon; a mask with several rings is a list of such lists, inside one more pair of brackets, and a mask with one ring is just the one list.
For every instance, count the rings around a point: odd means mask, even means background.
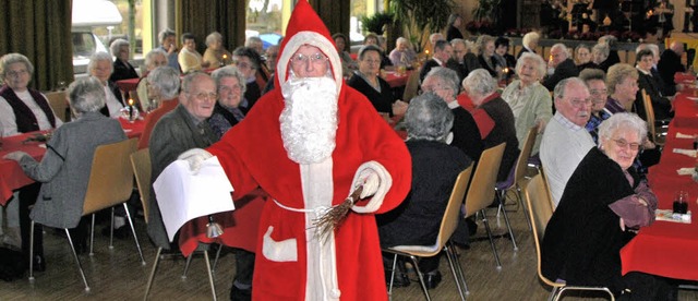
[{"label": "black garment of the smiling white-haired woman with glasses at right front", "polygon": [[[638,183],[637,174],[633,176]],[[591,148],[567,181],[545,228],[543,275],[573,286],[623,289],[619,252],[630,234],[621,230],[619,217],[609,205],[631,194],[635,191],[621,167],[597,147]]]}]

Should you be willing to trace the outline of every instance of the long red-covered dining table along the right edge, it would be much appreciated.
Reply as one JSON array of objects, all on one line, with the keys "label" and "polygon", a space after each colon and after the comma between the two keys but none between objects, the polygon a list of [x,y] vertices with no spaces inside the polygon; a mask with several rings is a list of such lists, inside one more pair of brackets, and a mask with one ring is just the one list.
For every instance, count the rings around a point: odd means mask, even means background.
[{"label": "long red-covered dining table along the right edge", "polygon": [[[695,79],[695,77],[694,77]],[[695,168],[696,157],[674,153],[694,149],[698,136],[698,98],[696,88],[678,93],[673,101],[675,116],[669,124],[665,144],[658,165],[649,168],[648,183],[658,197],[658,208],[673,208],[678,191],[688,193],[690,222],[655,220],[643,227],[622,250],[623,275],[642,272],[674,279],[698,280],[698,182],[682,168]]]}]

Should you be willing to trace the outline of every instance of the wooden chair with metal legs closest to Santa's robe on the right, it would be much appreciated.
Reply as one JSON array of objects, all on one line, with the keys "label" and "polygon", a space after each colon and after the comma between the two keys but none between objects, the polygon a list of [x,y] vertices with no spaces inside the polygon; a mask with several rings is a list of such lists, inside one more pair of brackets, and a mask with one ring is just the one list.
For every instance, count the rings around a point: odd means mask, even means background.
[{"label": "wooden chair with metal legs closest to Santa's robe on the right", "polygon": [[[450,193],[450,197],[448,198],[448,204],[446,205],[446,210],[444,212],[444,217],[441,220],[441,227],[438,228],[438,236],[436,237],[436,243],[433,245],[397,245],[393,248],[383,249],[383,252],[394,254],[393,257],[393,273],[390,274],[390,284],[388,287],[388,296],[393,292],[393,282],[395,280],[395,269],[397,267],[397,256],[407,256],[412,261],[414,265],[414,270],[417,270],[417,275],[419,277],[419,282],[422,286],[422,291],[426,297],[426,300],[431,300],[429,296],[429,290],[426,289],[426,285],[424,284],[424,275],[419,269],[419,264],[417,257],[432,257],[441,253],[442,251],[446,252],[446,257],[448,258],[448,265],[450,266],[450,273],[454,276],[454,281],[456,282],[456,287],[458,288],[458,293],[460,294],[461,300],[466,300],[466,294],[468,293],[468,286],[466,285],[466,278],[462,273],[462,268],[458,263],[458,258],[453,252],[453,243],[450,243],[450,236],[453,236],[456,227],[458,226],[458,220],[460,219],[459,208],[460,203],[462,202],[462,197],[466,195],[466,190],[468,189],[468,182],[470,182],[470,174],[472,173],[472,165],[466,168],[458,174],[456,178],[456,183],[454,184],[454,189]],[[457,267],[457,268],[456,268]],[[462,287],[460,286],[462,284]]]}]

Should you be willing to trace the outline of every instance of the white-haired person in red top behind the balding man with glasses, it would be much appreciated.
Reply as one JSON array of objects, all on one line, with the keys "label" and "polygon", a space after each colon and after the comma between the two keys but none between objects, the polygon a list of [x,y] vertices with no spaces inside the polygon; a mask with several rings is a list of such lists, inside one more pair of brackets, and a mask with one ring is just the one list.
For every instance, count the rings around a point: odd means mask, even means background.
[{"label": "white-haired person in red top behind the balding man with glasses", "polygon": [[148,147],[151,132],[157,121],[179,105],[177,99],[180,85],[179,71],[168,65],[158,67],[148,73],[144,82],[147,82],[147,98],[153,99],[154,104],[158,104],[158,108],[145,117],[145,127],[139,140],[139,149]]}]

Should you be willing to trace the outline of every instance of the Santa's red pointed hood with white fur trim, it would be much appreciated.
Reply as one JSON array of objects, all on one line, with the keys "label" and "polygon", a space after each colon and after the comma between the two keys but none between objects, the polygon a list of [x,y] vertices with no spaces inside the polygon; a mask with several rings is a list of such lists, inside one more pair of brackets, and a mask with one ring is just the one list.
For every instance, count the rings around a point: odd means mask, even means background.
[{"label": "Santa's red pointed hood with white fur trim", "polygon": [[337,92],[339,92],[342,83],[341,60],[327,26],[306,0],[299,0],[296,3],[286,27],[286,36],[281,43],[280,56],[276,64],[278,87],[282,87],[284,83],[288,81],[291,56],[303,45],[315,46],[329,58],[329,70],[337,82]]}]

